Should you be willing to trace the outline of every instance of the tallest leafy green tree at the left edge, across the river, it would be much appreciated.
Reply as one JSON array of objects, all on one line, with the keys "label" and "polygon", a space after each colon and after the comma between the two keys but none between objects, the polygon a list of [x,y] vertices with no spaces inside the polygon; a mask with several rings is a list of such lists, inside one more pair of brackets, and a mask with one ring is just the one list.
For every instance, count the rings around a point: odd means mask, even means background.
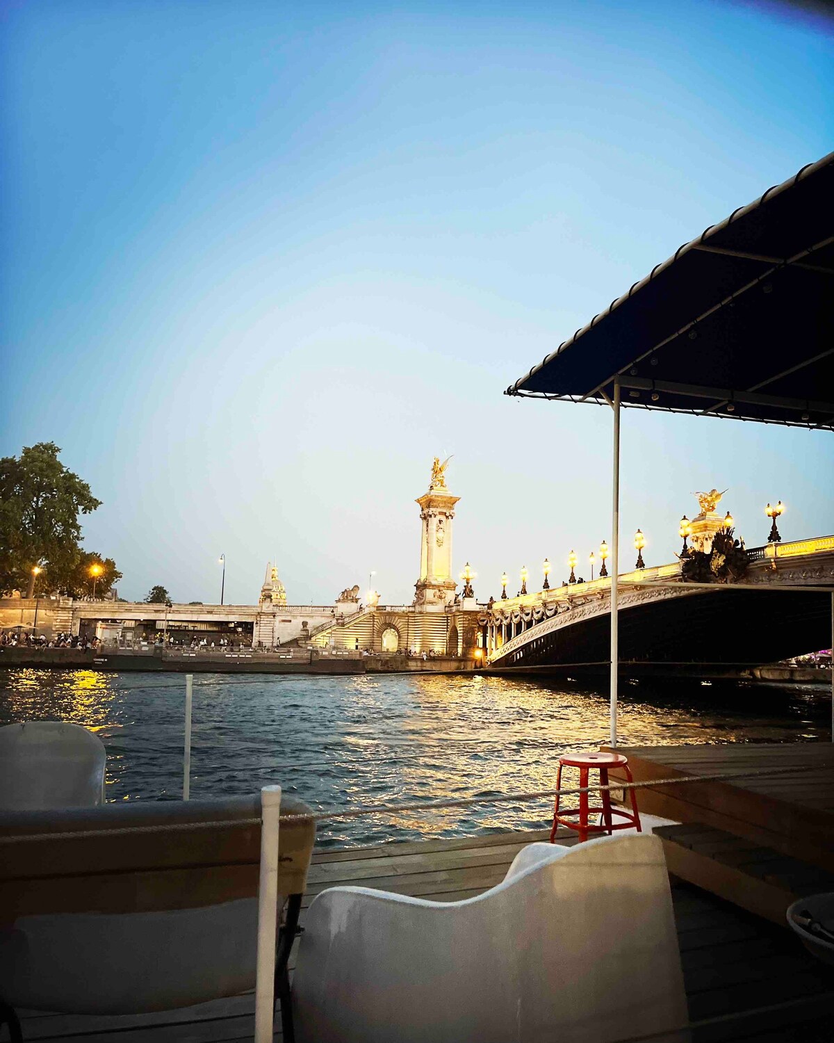
[{"label": "tallest leafy green tree at the left edge, across the river", "polygon": [[79,515],[101,501],[58,460],[54,442],[24,446],[0,459],[0,592],[33,589],[32,568],[45,562],[68,575],[80,555]]}]

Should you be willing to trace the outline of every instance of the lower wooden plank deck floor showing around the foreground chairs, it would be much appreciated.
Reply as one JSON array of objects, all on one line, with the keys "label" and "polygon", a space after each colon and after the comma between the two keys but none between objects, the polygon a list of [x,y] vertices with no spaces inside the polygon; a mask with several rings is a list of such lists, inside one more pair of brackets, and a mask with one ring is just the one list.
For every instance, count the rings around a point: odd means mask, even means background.
[{"label": "lower wooden plank deck floor showing around the foreground chairs", "polygon": [[[341,883],[436,901],[469,898],[498,883],[521,847],[546,836],[542,832],[493,833],[317,851],[304,909],[318,892]],[[564,831],[560,840],[571,843],[573,838]],[[740,1039],[830,1043],[831,968],[810,956],[787,928],[694,887],[673,883],[672,898],[690,1019],[713,1019],[693,1033],[693,1043]],[[253,1010],[253,998],[241,996],[129,1018],[31,1013],[24,1019],[24,1036],[41,1043],[238,1043],[252,1039]],[[741,1018],[728,1019],[740,1012],[745,1012]]]}]

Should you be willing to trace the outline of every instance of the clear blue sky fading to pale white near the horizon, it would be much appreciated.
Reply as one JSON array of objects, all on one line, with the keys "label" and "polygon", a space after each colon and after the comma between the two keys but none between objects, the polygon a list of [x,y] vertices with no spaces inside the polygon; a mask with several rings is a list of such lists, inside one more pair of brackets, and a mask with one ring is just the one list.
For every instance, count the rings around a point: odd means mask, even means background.
[{"label": "clear blue sky fading to pale white near the horizon", "polygon": [[[611,539],[611,415],[504,389],[819,159],[834,22],[677,0],[31,0],[0,15],[0,455],[54,441],[119,593],[411,602],[434,456],[481,600]],[[621,539],[695,490],[834,531],[824,432],[627,411]],[[531,588],[533,588],[531,581]]]}]

